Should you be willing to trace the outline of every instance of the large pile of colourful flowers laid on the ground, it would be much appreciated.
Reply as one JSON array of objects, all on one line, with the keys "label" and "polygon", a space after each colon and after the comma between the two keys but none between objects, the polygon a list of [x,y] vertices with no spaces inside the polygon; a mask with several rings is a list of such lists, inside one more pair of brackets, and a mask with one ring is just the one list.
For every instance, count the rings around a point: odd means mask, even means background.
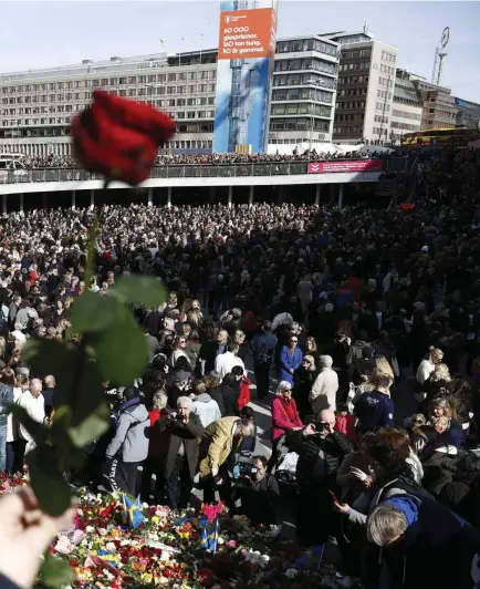
[{"label": "large pile of colourful flowers laid on the ground", "polygon": [[[27,484],[27,475],[0,475],[0,494]],[[343,587],[342,578],[314,551],[282,541],[274,529],[253,528],[243,516],[229,517],[210,505],[202,507],[199,517],[191,509],[140,507],[142,523],[127,527],[121,497],[80,492],[71,527],[49,549],[74,570],[73,587]],[[202,525],[215,520],[219,523],[217,549],[206,549]]]}]

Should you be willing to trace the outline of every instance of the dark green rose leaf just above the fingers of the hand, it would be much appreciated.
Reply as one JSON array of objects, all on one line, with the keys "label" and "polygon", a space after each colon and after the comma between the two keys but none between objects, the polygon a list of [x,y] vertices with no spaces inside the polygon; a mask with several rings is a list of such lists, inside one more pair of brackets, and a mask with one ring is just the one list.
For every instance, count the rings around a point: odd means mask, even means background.
[{"label": "dark green rose leaf just above the fingers of the hand", "polygon": [[70,487],[52,462],[52,448],[36,446],[27,454],[27,464],[40,507],[51,516],[61,516],[70,507]]}]

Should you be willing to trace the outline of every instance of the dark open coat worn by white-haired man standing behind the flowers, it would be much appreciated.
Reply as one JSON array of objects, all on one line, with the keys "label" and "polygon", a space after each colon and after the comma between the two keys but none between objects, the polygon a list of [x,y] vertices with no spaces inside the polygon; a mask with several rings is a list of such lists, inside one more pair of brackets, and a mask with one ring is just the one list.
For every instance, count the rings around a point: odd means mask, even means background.
[{"label": "dark open coat worn by white-haired man standing behind the flowers", "polygon": [[164,476],[168,478],[171,474],[178,451],[181,443],[184,443],[188,469],[190,477],[194,478],[198,466],[198,441],[204,435],[204,426],[198,415],[190,413],[187,424],[178,418],[170,420],[168,417],[157,423],[160,432],[165,432],[167,437]]}]

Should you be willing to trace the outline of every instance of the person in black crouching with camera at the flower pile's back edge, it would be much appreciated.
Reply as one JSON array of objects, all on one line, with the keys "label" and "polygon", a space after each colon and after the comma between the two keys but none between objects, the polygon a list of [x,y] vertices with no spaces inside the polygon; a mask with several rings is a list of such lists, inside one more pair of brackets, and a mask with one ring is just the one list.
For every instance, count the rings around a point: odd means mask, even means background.
[{"label": "person in black crouching with camera at the flower pile's back edge", "polygon": [[249,517],[253,526],[276,524],[280,490],[267,463],[264,456],[253,456],[249,471],[233,479],[233,500],[240,503],[234,513]]}]

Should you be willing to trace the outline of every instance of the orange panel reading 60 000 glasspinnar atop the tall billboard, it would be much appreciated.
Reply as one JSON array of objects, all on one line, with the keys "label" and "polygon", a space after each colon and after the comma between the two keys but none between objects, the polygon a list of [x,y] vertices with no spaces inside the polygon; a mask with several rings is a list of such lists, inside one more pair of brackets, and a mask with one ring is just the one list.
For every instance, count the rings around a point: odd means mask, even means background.
[{"label": "orange panel reading 60 000 glasspinnar atop the tall billboard", "polygon": [[[218,59],[268,58],[271,53],[272,18],[274,17],[272,8],[221,12]],[[274,29],[276,29],[275,25]]]}]

